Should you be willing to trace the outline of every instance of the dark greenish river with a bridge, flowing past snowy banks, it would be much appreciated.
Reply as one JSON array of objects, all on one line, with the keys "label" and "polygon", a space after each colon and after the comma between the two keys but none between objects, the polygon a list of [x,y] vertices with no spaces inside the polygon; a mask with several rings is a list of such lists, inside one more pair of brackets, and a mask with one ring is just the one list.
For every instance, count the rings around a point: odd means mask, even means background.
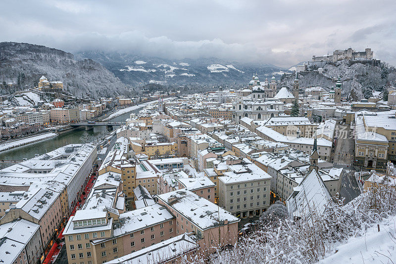
[{"label": "dark greenish river with a bridge, flowing past snowy banks", "polygon": [[[121,116],[110,119],[112,122],[123,122],[131,113],[139,113],[142,108],[133,110],[132,112],[123,114]],[[106,132],[107,128],[103,127],[94,127],[93,130],[87,131],[89,134],[95,136],[100,132]],[[1,151],[0,152],[0,160],[22,160],[23,158],[31,159],[34,158],[35,154],[44,154],[54,149],[57,149],[61,146],[71,144],[71,143],[81,143],[80,137],[86,132],[85,128],[81,128],[79,130],[74,130],[68,133],[64,133],[49,139],[45,139],[43,141],[39,141],[36,143],[32,143],[29,145],[24,145],[16,148],[12,148],[10,150]],[[0,168],[4,168],[9,166],[10,164],[1,164]]]}]

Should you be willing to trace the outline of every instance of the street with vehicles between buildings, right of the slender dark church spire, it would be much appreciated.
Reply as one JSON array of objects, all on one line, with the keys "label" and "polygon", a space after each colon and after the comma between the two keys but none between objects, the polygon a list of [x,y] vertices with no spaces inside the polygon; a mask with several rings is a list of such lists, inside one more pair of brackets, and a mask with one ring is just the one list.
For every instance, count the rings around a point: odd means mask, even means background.
[{"label": "street with vehicles between buildings, right of the slender dark church spire", "polygon": [[347,204],[361,193],[354,176],[353,151],[354,138],[351,134],[350,126],[337,123],[336,150],[333,164],[335,168],[344,168],[340,189],[340,197],[345,199],[344,204]]}]

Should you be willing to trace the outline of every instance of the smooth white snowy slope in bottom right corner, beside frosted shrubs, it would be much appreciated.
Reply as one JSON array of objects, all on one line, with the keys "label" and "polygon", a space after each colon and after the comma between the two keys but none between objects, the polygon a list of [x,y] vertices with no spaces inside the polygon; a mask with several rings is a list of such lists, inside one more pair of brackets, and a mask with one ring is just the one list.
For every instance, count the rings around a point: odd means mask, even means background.
[{"label": "smooth white snowy slope in bottom right corner, beside frosted shrubs", "polygon": [[396,261],[396,216],[383,219],[368,228],[365,236],[351,237],[336,248],[337,253],[320,264],[392,264]]}]

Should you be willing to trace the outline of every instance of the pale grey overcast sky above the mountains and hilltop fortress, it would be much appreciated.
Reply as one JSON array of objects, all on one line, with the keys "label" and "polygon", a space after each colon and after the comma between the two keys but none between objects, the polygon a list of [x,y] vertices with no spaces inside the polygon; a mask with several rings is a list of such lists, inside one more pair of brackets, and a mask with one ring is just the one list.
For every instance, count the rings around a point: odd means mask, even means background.
[{"label": "pale grey overcast sky above the mountains and hilltop fortress", "polygon": [[0,40],[289,67],[371,47],[396,65],[396,0],[1,0]]}]

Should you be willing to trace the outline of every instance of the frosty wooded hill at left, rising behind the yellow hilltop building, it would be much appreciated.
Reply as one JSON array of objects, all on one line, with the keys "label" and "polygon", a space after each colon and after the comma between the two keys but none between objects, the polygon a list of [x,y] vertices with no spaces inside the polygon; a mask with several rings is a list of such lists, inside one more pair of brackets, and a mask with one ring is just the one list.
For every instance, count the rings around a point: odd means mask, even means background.
[{"label": "frosty wooded hill at left, rising behind the yellow hilltop building", "polygon": [[41,76],[62,81],[63,88],[76,96],[114,96],[127,92],[125,85],[111,72],[93,60],[74,60],[71,53],[42,45],[0,43],[0,81],[15,82],[23,75],[20,87],[1,86],[1,94],[37,86]]}]

